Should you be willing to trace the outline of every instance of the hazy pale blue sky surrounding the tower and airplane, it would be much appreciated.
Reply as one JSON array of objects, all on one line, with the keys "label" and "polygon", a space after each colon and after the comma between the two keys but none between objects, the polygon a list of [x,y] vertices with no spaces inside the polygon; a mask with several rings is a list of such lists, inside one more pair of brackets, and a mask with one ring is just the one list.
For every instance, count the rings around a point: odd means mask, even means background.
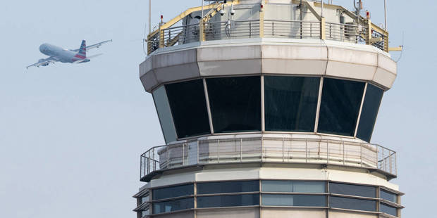
[{"label": "hazy pale blue sky surrounding the tower and airplane", "polygon": [[[200,0],[152,0],[153,23]],[[405,45],[372,143],[398,152],[404,217],[429,217],[437,195],[436,1],[388,0],[390,46]],[[352,8],[352,1],[333,0]],[[140,154],[164,144],[140,82],[147,0],[2,1],[0,217],[135,217]],[[364,1],[383,23],[383,1]],[[44,42],[77,49],[107,39],[90,63],[25,66]],[[398,60],[400,53],[393,53]]]}]

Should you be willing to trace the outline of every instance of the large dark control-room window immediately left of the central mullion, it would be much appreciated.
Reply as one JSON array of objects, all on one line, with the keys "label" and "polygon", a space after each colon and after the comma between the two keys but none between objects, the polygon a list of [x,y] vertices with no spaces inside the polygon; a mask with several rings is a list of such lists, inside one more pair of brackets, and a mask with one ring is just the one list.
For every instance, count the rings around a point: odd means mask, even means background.
[{"label": "large dark control-room window immediately left of the central mullion", "polygon": [[207,79],[214,132],[261,131],[261,78]]}]

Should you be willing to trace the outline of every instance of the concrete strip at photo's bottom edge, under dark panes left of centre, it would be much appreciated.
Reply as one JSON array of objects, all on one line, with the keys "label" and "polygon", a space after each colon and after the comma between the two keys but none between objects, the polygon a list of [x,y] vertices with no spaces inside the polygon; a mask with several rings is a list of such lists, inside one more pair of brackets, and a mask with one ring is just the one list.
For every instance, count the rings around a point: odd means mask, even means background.
[{"label": "concrete strip at photo's bottom edge, under dark panes left of centre", "polygon": [[197,218],[259,218],[259,208],[198,210]]}]

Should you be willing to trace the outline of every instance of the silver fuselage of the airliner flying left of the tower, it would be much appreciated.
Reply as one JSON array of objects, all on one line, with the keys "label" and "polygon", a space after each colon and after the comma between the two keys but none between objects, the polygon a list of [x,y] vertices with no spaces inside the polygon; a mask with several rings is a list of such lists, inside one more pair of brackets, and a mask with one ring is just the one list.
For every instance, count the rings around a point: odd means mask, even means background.
[{"label": "silver fuselage of the airliner flying left of the tower", "polygon": [[62,63],[75,63],[78,60],[82,60],[81,63],[89,62],[90,59],[78,57],[78,53],[75,51],[70,51],[68,49],[62,49],[59,46],[54,46],[52,44],[44,43],[39,46],[39,51],[44,53],[44,55],[58,58]]}]

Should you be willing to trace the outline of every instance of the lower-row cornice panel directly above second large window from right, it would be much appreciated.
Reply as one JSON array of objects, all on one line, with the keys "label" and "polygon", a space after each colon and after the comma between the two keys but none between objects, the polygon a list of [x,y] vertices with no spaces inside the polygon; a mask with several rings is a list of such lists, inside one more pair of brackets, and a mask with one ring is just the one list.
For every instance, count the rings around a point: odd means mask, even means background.
[{"label": "lower-row cornice panel directly above second large window from right", "polygon": [[326,68],[326,76],[371,80],[374,77],[375,71],[376,66],[330,60],[328,62],[328,68]]}]

